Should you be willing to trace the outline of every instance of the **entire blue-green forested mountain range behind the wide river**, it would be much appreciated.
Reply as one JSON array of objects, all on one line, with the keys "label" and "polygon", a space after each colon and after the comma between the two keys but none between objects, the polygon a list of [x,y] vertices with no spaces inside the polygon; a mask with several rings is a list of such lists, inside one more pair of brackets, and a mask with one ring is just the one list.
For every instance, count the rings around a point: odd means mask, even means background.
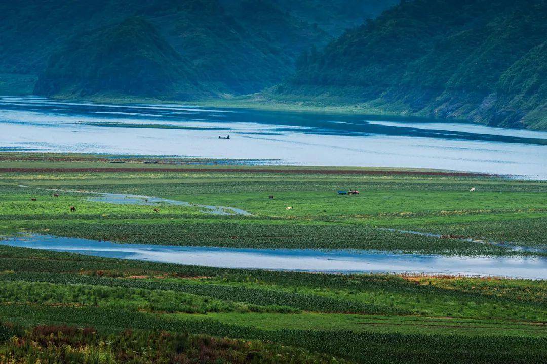
[{"label": "entire blue-green forested mountain range behind the wide river", "polygon": [[547,128],[545,19],[547,0],[2,2],[0,93],[270,88],[289,102]]}]

